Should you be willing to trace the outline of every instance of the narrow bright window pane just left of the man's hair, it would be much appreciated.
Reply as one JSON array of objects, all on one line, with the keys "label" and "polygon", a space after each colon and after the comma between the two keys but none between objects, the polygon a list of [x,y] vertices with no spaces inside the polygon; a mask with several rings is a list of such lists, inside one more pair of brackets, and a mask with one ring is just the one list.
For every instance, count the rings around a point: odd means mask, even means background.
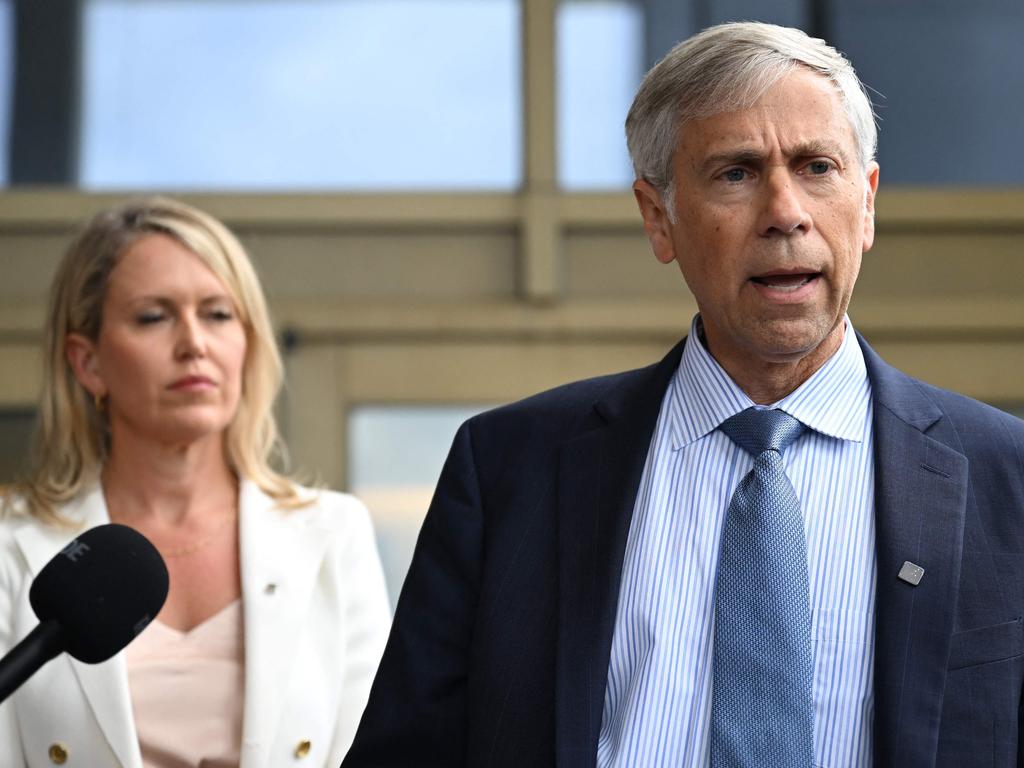
[{"label": "narrow bright window pane just left of the man's hair", "polygon": [[556,24],[559,182],[628,186],[623,125],[643,77],[643,9],[629,0],[563,0]]}]

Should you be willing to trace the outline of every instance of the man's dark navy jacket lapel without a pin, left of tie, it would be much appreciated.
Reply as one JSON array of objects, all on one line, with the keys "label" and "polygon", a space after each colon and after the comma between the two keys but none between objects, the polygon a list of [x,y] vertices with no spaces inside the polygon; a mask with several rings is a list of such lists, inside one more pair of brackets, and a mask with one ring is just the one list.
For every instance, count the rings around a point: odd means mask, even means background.
[{"label": "man's dark navy jacket lapel without a pin, left of tie", "polygon": [[626,540],[651,434],[683,343],[596,402],[591,429],[561,447],[555,682],[560,768],[593,766],[597,759]]}]

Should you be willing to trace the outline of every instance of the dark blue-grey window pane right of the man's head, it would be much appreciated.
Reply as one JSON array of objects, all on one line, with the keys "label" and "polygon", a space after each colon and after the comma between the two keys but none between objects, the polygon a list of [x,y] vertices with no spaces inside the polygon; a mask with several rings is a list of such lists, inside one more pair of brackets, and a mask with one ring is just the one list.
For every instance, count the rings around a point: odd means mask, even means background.
[{"label": "dark blue-grey window pane right of the man's head", "polygon": [[848,0],[831,26],[877,91],[883,185],[1024,183],[1024,3]]}]

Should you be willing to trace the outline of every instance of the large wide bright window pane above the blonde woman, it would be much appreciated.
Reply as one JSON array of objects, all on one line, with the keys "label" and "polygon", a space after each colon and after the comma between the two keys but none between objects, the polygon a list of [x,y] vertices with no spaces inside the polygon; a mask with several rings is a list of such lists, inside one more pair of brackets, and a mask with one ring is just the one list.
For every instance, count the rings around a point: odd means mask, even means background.
[{"label": "large wide bright window pane above the blonde woman", "polygon": [[515,0],[87,0],[92,188],[513,188]]}]

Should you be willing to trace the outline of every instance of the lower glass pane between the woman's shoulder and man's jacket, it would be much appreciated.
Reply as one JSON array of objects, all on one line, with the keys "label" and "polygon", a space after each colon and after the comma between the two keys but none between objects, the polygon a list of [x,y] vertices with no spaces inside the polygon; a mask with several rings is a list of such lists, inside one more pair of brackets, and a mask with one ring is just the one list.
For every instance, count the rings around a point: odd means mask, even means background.
[{"label": "lower glass pane between the woman's shoulder and man's jacket", "polygon": [[452,438],[486,408],[364,406],[349,414],[349,487],[373,515],[392,606]]}]

